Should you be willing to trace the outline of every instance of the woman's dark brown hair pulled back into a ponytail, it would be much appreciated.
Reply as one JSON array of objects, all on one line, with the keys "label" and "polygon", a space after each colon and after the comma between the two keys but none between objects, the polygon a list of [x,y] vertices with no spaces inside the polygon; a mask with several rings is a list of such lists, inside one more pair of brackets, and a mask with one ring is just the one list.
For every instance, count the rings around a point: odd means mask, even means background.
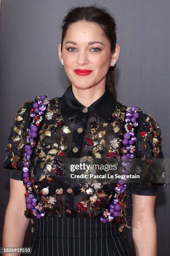
[{"label": "woman's dark brown hair pulled back into a ponytail", "polygon": [[[107,8],[97,7],[96,3],[94,5],[82,6],[71,8],[68,10],[67,15],[62,20],[62,37],[61,37],[61,51],[63,40],[66,36],[68,27],[77,21],[84,20],[92,23],[97,23],[102,30],[105,32],[107,39],[110,41],[110,51],[115,51],[116,46],[116,23],[113,16],[109,13]],[[116,94],[116,79],[117,72],[114,67],[110,67],[107,76],[106,83],[108,84],[111,92],[113,93],[115,100],[117,100]]]}]

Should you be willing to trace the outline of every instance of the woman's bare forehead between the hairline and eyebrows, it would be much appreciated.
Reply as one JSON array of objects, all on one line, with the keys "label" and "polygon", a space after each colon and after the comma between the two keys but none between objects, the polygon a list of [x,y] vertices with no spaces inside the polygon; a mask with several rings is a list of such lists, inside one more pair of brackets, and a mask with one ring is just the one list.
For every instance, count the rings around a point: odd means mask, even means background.
[{"label": "woman's bare forehead between the hairline and eyebrows", "polygon": [[106,41],[104,31],[97,23],[78,21],[72,23],[68,29],[64,41]]}]

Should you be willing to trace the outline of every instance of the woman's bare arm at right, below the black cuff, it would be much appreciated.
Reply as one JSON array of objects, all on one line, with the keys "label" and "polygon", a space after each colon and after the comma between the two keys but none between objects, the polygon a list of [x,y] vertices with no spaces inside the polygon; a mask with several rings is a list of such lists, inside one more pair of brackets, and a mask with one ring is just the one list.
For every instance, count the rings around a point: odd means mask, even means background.
[{"label": "woman's bare arm at right, below the black cuff", "polygon": [[136,256],[157,256],[156,196],[132,193],[132,236]]}]

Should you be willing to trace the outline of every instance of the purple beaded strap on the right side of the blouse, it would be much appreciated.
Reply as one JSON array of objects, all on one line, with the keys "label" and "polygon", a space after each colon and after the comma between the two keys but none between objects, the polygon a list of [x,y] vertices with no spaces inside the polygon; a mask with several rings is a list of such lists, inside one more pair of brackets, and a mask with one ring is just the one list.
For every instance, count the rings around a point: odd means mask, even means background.
[{"label": "purple beaded strap on the right side of the blouse", "polygon": [[[136,142],[136,137],[134,136],[134,128],[138,126],[138,122],[136,119],[139,118],[139,113],[137,111],[140,111],[140,109],[133,105],[131,108],[126,109],[126,118],[125,118],[125,130],[127,131],[123,135],[123,140],[122,140],[122,156],[121,156],[121,161],[122,161],[122,167],[124,169],[123,174],[129,174],[130,172],[130,167],[132,166],[132,163],[130,161],[131,158],[135,156],[134,151],[135,151],[135,146],[133,146],[133,143]],[[121,222],[124,220],[123,217],[120,216],[120,210],[121,210],[121,205],[123,198],[125,196],[125,189],[127,189],[129,185],[124,182],[124,179],[119,179],[117,186],[115,187],[115,195],[114,199],[110,203],[110,209],[106,209],[103,212],[103,215],[99,216],[99,219],[102,221],[102,223],[110,222],[113,221],[114,217],[120,217],[117,222]]]}]

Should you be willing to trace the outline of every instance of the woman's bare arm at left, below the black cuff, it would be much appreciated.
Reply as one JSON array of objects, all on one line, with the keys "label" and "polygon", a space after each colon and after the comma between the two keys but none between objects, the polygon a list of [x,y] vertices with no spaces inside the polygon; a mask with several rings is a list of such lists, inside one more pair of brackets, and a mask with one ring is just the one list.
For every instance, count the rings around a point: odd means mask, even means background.
[{"label": "woman's bare arm at left, below the black cuff", "polygon": [[[24,215],[25,192],[23,181],[10,179],[10,199],[5,212],[5,221],[2,233],[2,247],[22,247],[30,218]],[[12,256],[13,253],[4,253],[3,256]],[[15,254],[20,255],[20,254]]]}]

